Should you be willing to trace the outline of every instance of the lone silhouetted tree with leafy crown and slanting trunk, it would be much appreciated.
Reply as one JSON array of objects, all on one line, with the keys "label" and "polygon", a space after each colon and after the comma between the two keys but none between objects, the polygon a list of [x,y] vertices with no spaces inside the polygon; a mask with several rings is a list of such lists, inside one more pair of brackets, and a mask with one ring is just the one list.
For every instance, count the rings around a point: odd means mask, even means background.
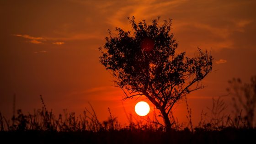
[{"label": "lone silhouetted tree with leafy crown and slanting trunk", "polygon": [[176,53],[178,44],[171,33],[171,19],[159,26],[160,17],[147,25],[128,18],[133,33],[116,28],[117,35],[106,37],[100,63],[110,70],[125,97],[146,96],[160,110],[166,130],[174,104],[192,91],[202,89],[201,80],[212,71],[212,56],[198,48],[197,56]]}]

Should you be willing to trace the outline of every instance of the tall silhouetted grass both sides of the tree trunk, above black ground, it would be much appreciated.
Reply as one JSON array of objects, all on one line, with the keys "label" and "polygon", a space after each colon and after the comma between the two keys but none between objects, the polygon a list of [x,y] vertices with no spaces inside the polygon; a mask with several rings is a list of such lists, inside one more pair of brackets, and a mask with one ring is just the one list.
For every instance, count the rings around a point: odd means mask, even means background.
[{"label": "tall silhouetted grass both sides of the tree trunk, above black ground", "polygon": [[[15,98],[15,97],[14,97]],[[34,110],[33,113],[24,114],[21,109],[18,109],[12,116],[11,120],[4,117],[0,112],[0,131],[56,131],[56,132],[101,132],[101,131],[155,131],[165,132],[165,127],[158,121],[155,114],[153,119],[149,117],[147,119],[142,118],[136,120],[134,123],[132,115],[128,117],[129,123],[122,125],[118,122],[117,117],[113,117],[110,109],[108,108],[109,117],[108,120],[100,122],[94,111],[93,107],[89,103],[90,109],[85,108],[82,114],[76,115],[75,112],[68,112],[64,109],[64,114],[54,115],[52,110],[48,110],[43,97],[40,96],[43,107],[41,109]],[[178,120],[174,118],[173,114],[170,114],[171,122],[173,123],[174,131],[188,130],[188,131],[221,131],[225,128],[249,128],[246,125],[245,119],[241,117],[241,113],[237,117],[231,117],[230,114],[226,115],[224,110],[227,105],[224,100],[219,97],[213,98],[213,106],[208,108],[208,113],[201,113],[201,121],[197,126],[192,125],[192,110],[188,107],[187,99],[187,127],[184,127],[184,123],[178,123]],[[15,107],[15,106],[14,106]],[[190,128],[189,128],[190,127]],[[195,128],[193,128],[195,127]]]}]

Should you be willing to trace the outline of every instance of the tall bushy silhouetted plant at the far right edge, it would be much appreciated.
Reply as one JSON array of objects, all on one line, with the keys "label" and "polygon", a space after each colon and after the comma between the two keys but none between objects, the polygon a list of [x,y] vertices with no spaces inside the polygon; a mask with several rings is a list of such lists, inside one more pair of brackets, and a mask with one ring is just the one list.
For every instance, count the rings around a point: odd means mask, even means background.
[{"label": "tall bushy silhouetted plant at the far right edge", "polygon": [[[245,125],[253,128],[255,125],[256,108],[256,76],[251,77],[251,83],[242,83],[238,79],[229,80],[230,88],[227,91],[232,95],[235,108],[235,122],[245,120]],[[243,117],[241,113],[244,112]]]}]

